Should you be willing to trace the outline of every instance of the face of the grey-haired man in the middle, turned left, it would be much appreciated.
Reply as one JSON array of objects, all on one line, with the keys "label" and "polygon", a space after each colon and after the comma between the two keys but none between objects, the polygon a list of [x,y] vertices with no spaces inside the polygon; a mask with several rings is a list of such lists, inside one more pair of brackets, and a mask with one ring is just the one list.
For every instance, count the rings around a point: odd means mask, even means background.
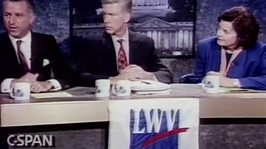
[{"label": "face of the grey-haired man in the middle, turned left", "polygon": [[123,30],[125,23],[130,19],[130,14],[126,13],[121,4],[102,5],[105,30],[109,34],[116,34]]}]

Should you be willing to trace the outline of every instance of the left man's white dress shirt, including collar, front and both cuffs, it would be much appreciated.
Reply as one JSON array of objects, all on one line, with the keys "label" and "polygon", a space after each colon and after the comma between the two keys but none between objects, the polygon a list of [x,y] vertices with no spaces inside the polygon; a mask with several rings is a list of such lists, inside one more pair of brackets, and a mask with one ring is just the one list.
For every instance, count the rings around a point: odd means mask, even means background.
[{"label": "left man's white dress shirt, including collar, front and both cuffs", "polygon": [[[30,60],[31,59],[31,32],[29,32],[25,37],[23,37],[21,39],[14,38],[11,35],[9,35],[9,38],[10,38],[11,43],[12,43],[12,45],[16,51],[19,63],[20,63],[20,61],[19,61],[19,57],[18,57],[17,41],[19,41],[19,40],[22,41],[20,44],[20,51],[23,53],[29,69],[31,69],[31,60]],[[3,82],[1,82],[1,92],[2,93],[9,93],[10,92],[10,84],[11,84],[11,81],[13,79],[14,78],[7,78]],[[54,87],[54,89],[52,89],[53,91],[62,89],[60,83],[57,80],[51,79],[51,80],[47,80],[47,81],[51,82],[51,84],[53,85],[53,87]]]}]

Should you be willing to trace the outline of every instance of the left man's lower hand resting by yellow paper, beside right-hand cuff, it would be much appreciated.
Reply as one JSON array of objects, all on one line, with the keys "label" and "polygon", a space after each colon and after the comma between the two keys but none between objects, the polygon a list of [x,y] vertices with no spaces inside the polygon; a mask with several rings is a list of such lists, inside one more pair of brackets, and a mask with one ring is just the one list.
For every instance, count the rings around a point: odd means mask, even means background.
[{"label": "left man's lower hand resting by yellow paper, beside right-hand cuff", "polygon": [[50,90],[53,87],[53,85],[50,82],[39,82],[36,81],[31,85],[31,92],[34,93],[40,93],[40,92],[46,92]]}]

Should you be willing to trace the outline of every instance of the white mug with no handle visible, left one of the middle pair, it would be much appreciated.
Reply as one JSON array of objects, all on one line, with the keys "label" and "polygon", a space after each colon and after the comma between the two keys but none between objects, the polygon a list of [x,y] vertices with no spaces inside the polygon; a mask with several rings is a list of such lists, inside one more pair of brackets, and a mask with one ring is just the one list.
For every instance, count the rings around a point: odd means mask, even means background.
[{"label": "white mug with no handle visible, left one of the middle pair", "polygon": [[110,96],[110,80],[100,79],[95,81],[95,97],[109,97]]}]

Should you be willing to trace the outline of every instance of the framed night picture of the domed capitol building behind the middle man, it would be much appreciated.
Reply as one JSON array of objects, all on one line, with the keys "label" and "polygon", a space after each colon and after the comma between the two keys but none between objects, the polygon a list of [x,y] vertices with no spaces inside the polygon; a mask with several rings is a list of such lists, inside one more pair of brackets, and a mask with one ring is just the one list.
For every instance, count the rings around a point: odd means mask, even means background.
[{"label": "framed night picture of the domed capitol building behind the middle man", "polygon": [[[183,0],[186,3],[181,8],[183,11],[174,7],[172,1],[178,0],[133,0],[129,28],[134,32],[151,37],[159,56],[192,55],[194,53],[195,21],[193,20],[194,16],[189,13],[194,14],[194,0]],[[172,2],[172,6],[170,6],[170,2]],[[178,5],[178,3],[175,4]],[[103,33],[102,16],[97,14],[101,5],[100,3],[96,5],[99,7],[95,6],[92,8],[94,10],[89,11],[94,13],[88,13],[78,5],[73,7],[73,36],[86,38],[86,36]],[[179,5],[179,7],[181,6]],[[184,12],[189,13],[186,13],[187,16],[185,16]],[[85,18],[89,21],[79,21]]]}]

